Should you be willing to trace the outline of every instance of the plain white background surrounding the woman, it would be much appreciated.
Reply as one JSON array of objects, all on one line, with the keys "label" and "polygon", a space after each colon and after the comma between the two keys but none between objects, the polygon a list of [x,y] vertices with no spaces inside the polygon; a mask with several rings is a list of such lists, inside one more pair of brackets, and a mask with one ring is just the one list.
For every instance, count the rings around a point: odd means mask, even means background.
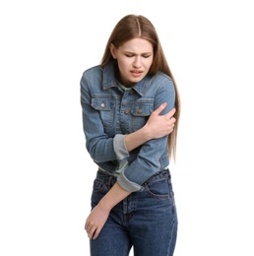
[{"label": "plain white background surrounding the woman", "polygon": [[1,2],[0,255],[89,255],[79,83],[129,13],[157,28],[181,95],[175,256],[254,255],[251,2]]}]

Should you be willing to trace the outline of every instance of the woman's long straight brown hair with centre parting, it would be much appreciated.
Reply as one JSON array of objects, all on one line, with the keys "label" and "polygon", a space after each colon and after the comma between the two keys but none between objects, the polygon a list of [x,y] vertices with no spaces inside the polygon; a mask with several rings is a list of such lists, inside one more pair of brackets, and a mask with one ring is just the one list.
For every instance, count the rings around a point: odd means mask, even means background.
[{"label": "woman's long straight brown hair with centre parting", "polygon": [[137,37],[150,41],[154,47],[154,60],[150,68],[149,74],[155,75],[159,71],[163,72],[171,78],[174,85],[176,108],[174,117],[176,118],[176,122],[173,132],[170,133],[170,135],[168,136],[168,149],[169,157],[175,160],[178,122],[180,117],[180,97],[175,80],[165,59],[162,47],[159,42],[159,36],[154,25],[146,17],[141,15],[127,15],[123,17],[116,24],[115,28],[109,36],[109,39],[105,46],[103,57],[101,59],[101,66],[103,67],[109,61],[114,60],[109,48],[110,43],[112,43],[116,48],[118,48],[124,42]]}]

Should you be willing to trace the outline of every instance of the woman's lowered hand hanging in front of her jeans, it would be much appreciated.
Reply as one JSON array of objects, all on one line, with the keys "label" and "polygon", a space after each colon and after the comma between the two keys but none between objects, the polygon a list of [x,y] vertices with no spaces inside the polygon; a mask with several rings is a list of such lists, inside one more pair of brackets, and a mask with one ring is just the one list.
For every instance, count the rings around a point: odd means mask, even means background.
[{"label": "woman's lowered hand hanging in front of her jeans", "polygon": [[108,218],[109,212],[107,209],[103,209],[99,203],[95,206],[85,224],[85,229],[90,239],[95,240],[97,238]]}]

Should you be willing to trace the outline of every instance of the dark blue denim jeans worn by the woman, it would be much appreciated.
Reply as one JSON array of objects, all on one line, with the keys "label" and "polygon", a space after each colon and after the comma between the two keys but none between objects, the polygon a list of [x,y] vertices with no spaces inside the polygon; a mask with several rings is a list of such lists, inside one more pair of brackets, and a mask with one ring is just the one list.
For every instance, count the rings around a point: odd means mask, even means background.
[{"label": "dark blue denim jeans worn by the woman", "polygon": [[[116,182],[114,176],[97,171],[92,208]],[[173,255],[177,214],[168,169],[152,176],[110,212],[98,237],[90,241],[92,256]]]}]

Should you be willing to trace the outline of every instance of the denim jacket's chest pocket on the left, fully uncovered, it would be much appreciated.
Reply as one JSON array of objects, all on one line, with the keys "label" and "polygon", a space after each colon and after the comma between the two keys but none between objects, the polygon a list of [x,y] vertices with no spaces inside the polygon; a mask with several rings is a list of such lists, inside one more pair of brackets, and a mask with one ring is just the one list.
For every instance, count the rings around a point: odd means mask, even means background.
[{"label": "denim jacket's chest pocket on the left, fully uncovered", "polygon": [[106,130],[112,128],[115,111],[115,99],[110,97],[93,97],[92,106],[99,111],[104,128]]}]

